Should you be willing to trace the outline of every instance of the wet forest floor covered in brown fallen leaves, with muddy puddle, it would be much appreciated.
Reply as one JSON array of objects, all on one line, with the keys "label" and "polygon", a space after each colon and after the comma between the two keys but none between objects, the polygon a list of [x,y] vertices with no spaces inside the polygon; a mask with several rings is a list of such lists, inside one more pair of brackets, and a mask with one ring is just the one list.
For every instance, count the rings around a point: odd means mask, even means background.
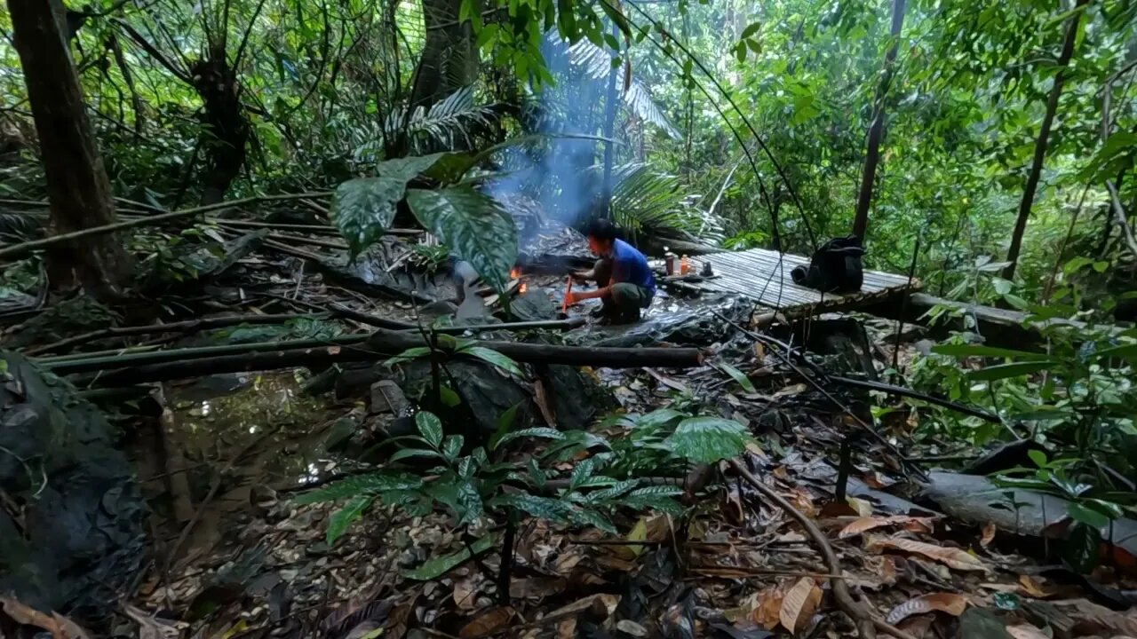
[{"label": "wet forest floor covered in brown fallen leaves, with muddy puddle", "polygon": [[[151,265],[156,277],[180,277],[176,287],[153,289],[160,292],[147,302],[151,310],[157,302],[167,322],[300,316],[116,334],[103,331],[106,317],[86,321],[90,313],[73,309],[50,321],[40,321],[47,314],[25,318],[6,330],[6,340],[15,338],[41,362],[82,358],[84,351],[124,354],[140,345],[132,352],[296,338],[332,345],[337,334],[368,330],[360,317],[417,323],[454,310],[408,298],[412,290],[439,299],[451,294],[446,277],[406,267],[413,264],[414,234],[389,239],[377,257],[348,263],[332,259],[343,257],[339,240],[310,230],[277,225],[271,236],[249,240],[236,229],[218,225],[186,241],[197,248]],[[516,288],[524,283],[528,291],[514,300],[530,300],[518,312],[533,314],[521,320],[555,317],[564,282],[557,268],[539,268],[549,255],[558,255],[561,266],[566,255],[584,258],[579,243],[555,235],[533,242],[529,272],[517,277]],[[377,276],[380,271],[389,276]],[[392,291],[402,291],[404,299]],[[1047,512],[1047,501],[1018,491],[1011,512],[1001,504],[1006,491],[979,474],[958,473],[984,451],[946,439],[912,446],[920,409],[803,375],[800,365],[769,345],[715,320],[719,312],[729,316],[732,305],[738,302],[730,296],[662,296],[641,325],[586,325],[565,334],[567,343],[704,349],[711,358],[697,367],[582,373],[617,412],[697,405],[746,425],[754,441],[735,463],[699,467],[686,478],[648,474],[649,482],[682,488],[682,516],[621,512],[614,518],[619,534],[522,520],[507,597],[499,591],[500,545],[471,548],[467,526],[445,512],[410,516],[376,505],[329,543],[340,505],[296,501],[374,467],[374,447],[405,417],[381,392],[383,375],[352,381],[333,367],[308,376],[297,366],[108,389],[100,374],[81,373],[80,389],[124,433],[150,509],[148,559],[118,592],[108,634],[863,637],[869,631],[858,630],[854,617],[869,614],[877,632],[905,639],[1137,636],[1137,616],[1122,612],[1132,605],[1137,537],[1118,540],[1111,565],[1089,575],[1057,565],[1046,536],[1063,521],[1061,505]],[[350,313],[322,314],[335,307]],[[500,310],[500,300],[487,307]],[[115,309],[110,322],[127,326],[141,315],[127,306]],[[587,309],[570,315],[583,317]],[[855,314],[816,318],[798,330],[811,333],[805,343],[818,345],[813,362],[832,374],[865,373],[865,360],[873,368],[904,367],[920,338],[911,326]],[[80,339],[84,334],[93,337]],[[797,333],[782,337],[795,340]],[[727,374],[722,364],[744,379]],[[583,397],[555,403],[548,389],[489,371],[501,380],[485,383],[513,384],[501,392],[530,393],[534,424],[573,420],[608,440],[629,434],[625,423],[597,423],[606,410]],[[498,387],[487,388],[492,396]],[[873,415],[870,405],[883,410]],[[840,473],[843,449],[847,473]],[[541,445],[526,443],[511,460],[521,465],[540,453]],[[553,479],[570,476],[578,460],[550,464]],[[500,541],[493,536],[501,526],[489,528],[490,539]],[[19,601],[3,601],[13,619],[47,628]]]}]

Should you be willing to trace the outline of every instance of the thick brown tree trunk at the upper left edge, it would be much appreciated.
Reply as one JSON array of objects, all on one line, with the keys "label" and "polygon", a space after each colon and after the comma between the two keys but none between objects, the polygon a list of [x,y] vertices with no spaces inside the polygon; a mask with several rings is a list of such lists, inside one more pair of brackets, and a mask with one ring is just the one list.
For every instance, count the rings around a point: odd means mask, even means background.
[{"label": "thick brown tree trunk at the upper left edge", "polygon": [[[40,138],[53,234],[115,223],[110,181],[84,110],[78,74],[65,40],[60,0],[8,0],[16,50]],[[131,272],[114,234],[88,236],[48,250],[57,288],[82,284],[113,298]]]}]

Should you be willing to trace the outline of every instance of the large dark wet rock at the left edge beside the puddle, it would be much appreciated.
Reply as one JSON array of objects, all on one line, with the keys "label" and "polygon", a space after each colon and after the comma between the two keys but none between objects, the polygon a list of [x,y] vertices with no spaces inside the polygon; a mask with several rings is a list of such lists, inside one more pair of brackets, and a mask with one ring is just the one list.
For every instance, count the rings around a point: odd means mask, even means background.
[{"label": "large dark wet rock at the left edge beside the puddle", "polygon": [[147,506],[101,413],[66,382],[0,354],[0,591],[86,622],[141,567]]}]

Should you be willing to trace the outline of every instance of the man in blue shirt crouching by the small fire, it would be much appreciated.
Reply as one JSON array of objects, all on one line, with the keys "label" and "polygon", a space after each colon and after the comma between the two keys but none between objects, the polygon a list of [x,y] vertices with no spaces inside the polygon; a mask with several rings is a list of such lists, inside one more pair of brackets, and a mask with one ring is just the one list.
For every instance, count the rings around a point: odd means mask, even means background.
[{"label": "man in blue shirt crouching by the small fire", "polygon": [[600,259],[591,271],[575,273],[573,279],[578,282],[594,280],[599,288],[595,291],[566,292],[565,304],[599,298],[603,301],[601,313],[608,322],[638,322],[640,310],[650,306],[655,297],[655,276],[647,265],[647,258],[631,244],[616,238],[616,227],[605,219],[594,219],[584,234],[588,236],[588,248]]}]

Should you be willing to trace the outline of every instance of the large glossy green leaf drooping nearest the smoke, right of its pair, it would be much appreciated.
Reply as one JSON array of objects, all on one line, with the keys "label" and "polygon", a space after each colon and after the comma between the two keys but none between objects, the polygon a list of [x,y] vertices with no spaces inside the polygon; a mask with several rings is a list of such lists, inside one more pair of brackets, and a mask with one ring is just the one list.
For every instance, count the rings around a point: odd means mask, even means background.
[{"label": "large glossy green leaf drooping nearest the smoke, right of its pair", "polygon": [[418,222],[470,262],[489,285],[505,290],[517,262],[517,226],[492,198],[470,186],[410,189],[407,204]]}]

